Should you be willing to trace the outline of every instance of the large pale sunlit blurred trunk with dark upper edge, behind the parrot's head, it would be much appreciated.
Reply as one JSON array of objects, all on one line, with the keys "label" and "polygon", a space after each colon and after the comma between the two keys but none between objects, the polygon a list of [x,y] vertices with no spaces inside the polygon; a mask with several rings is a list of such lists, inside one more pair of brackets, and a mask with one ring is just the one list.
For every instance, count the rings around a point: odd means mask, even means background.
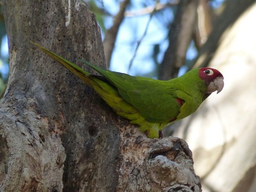
[{"label": "large pale sunlit blurred trunk with dark upper edge, behind the parrot's head", "polygon": [[254,192],[256,3],[229,0],[225,7],[196,63],[219,69],[224,89],[184,119],[175,135],[189,143],[204,192]]}]

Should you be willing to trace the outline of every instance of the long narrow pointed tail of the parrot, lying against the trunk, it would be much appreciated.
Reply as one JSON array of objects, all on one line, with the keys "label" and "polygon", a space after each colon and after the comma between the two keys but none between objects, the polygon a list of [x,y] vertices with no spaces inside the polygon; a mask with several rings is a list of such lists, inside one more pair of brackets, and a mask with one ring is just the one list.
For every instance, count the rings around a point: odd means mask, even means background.
[{"label": "long narrow pointed tail of the parrot, lying against the trunk", "polygon": [[57,61],[58,63],[60,63],[63,66],[65,66],[65,68],[67,68],[68,70],[73,72],[77,77],[81,78],[81,80],[83,80],[89,86],[92,86],[91,80],[88,77],[88,75],[90,75],[89,72],[84,71],[83,69],[81,69],[77,65],[71,63],[70,61],[67,61],[66,59],[62,58],[61,56],[56,55],[55,53],[51,52],[50,50],[45,49],[44,47],[40,46],[37,43],[34,43],[33,41],[30,41],[30,43],[32,43],[33,45],[37,46],[39,49],[41,49],[44,53],[49,55],[55,61]]}]

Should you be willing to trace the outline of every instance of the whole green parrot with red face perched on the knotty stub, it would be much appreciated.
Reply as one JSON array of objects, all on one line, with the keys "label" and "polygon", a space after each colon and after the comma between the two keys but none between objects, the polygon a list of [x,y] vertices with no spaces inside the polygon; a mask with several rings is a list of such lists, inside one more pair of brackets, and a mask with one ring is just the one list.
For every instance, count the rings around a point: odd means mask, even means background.
[{"label": "whole green parrot with red face perched on the knotty stub", "polygon": [[91,86],[121,117],[127,118],[150,138],[175,121],[194,113],[212,93],[224,86],[223,75],[213,68],[198,68],[169,81],[135,77],[81,62],[98,71],[92,75],[61,56],[31,42]]}]

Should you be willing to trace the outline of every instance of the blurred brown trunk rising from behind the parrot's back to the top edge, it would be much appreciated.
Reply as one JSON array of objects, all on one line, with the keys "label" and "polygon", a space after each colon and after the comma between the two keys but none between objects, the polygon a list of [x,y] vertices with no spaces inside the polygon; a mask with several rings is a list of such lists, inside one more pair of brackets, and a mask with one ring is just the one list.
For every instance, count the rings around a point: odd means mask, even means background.
[{"label": "blurred brown trunk rising from behind the parrot's back to the top edge", "polygon": [[177,77],[184,64],[186,51],[192,39],[198,0],[181,0],[169,31],[169,46],[164,53],[158,78],[169,80]]}]

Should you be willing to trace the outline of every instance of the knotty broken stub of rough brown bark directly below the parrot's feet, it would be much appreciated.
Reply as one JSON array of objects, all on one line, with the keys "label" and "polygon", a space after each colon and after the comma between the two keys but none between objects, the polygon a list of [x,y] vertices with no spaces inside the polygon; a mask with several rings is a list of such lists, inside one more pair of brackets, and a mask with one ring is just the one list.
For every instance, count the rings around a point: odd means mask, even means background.
[{"label": "knotty broken stub of rough brown bark directly below the parrot's feet", "polygon": [[192,153],[184,140],[178,137],[152,140],[134,127],[120,127],[122,161],[118,192],[201,191]]}]

